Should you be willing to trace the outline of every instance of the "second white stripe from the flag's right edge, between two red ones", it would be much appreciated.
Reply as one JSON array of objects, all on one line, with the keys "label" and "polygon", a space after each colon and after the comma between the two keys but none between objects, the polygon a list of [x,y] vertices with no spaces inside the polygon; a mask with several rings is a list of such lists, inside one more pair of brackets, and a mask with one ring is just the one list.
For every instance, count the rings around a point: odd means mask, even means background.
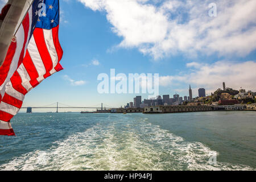
[{"label": "second white stripe from the flag's right edge, between two red ones", "polygon": [[27,50],[30,53],[31,60],[34,63],[36,70],[38,71],[38,75],[42,76],[46,74],[46,68],[44,68],[44,63],[41,59],[38,47],[36,46],[34,35],[31,36]]}]

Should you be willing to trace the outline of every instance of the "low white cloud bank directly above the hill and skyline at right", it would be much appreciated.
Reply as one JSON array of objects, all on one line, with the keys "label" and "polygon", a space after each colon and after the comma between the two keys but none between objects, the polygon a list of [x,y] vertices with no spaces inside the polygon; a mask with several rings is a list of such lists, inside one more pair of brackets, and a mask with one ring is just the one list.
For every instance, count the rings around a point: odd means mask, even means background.
[{"label": "low white cloud bank directly above the hill and skyline at right", "polygon": [[[189,65],[189,64],[188,64]],[[222,88],[222,82],[233,89],[240,87],[256,91],[256,61],[236,63],[232,61],[217,61],[213,64],[200,64],[190,73],[183,76],[161,76],[160,86],[175,84],[191,84],[195,88],[203,87],[208,92]]]}]

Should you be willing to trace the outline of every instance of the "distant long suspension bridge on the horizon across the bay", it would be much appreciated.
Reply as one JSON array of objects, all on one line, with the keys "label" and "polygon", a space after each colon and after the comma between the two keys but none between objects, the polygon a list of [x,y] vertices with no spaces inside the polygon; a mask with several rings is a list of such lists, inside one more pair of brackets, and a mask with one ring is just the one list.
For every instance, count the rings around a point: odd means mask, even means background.
[{"label": "distant long suspension bridge on the horizon across the bay", "polygon": [[35,107],[21,107],[20,109],[27,109],[27,113],[32,113],[32,109],[56,109],[56,113],[59,112],[59,109],[100,109],[100,110],[105,110],[105,109],[112,109],[114,108],[113,106],[109,106],[106,104],[97,104],[94,106],[69,106],[62,104],[60,102],[55,102],[53,104],[49,104],[46,106],[35,106]]}]

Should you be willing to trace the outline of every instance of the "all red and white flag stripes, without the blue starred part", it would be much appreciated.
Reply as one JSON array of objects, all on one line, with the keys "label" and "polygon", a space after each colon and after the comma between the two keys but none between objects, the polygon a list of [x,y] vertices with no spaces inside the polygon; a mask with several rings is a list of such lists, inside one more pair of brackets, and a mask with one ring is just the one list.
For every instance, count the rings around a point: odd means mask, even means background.
[{"label": "all red and white flag stripes, without the blue starred part", "polygon": [[[16,34],[16,42],[9,47],[7,65],[0,68],[9,68],[5,81],[0,80],[0,135],[15,135],[10,119],[22,107],[24,96],[45,78],[63,69],[59,64],[63,56],[59,25],[49,30],[35,28],[30,37],[31,17],[32,8]],[[0,73],[0,77],[3,74]]]}]

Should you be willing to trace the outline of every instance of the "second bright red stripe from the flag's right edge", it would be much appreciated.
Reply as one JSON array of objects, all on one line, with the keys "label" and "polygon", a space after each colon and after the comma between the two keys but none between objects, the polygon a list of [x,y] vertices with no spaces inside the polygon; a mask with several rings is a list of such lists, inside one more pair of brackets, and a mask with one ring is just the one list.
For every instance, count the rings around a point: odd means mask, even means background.
[{"label": "second bright red stripe from the flag's right edge", "polygon": [[[38,47],[39,54],[44,64],[44,68],[46,68],[46,72],[52,70],[52,59],[51,55],[49,54],[48,48],[46,46],[46,40],[44,39],[44,31],[42,28],[35,28],[34,30],[34,39],[36,43],[36,47]],[[46,75],[44,75],[46,78]]]}]

